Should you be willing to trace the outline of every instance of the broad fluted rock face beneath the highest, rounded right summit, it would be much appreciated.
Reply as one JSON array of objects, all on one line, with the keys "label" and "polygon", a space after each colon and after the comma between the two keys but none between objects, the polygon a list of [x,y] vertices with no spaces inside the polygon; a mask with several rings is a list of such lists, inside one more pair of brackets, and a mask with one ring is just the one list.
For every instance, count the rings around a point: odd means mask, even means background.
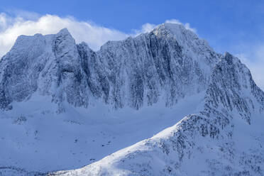
[{"label": "broad fluted rock face beneath the highest, rounded right summit", "polygon": [[136,109],[159,99],[171,106],[188,94],[202,92],[219,59],[204,40],[172,24],[106,43],[97,55],[109,77],[111,103]]}]

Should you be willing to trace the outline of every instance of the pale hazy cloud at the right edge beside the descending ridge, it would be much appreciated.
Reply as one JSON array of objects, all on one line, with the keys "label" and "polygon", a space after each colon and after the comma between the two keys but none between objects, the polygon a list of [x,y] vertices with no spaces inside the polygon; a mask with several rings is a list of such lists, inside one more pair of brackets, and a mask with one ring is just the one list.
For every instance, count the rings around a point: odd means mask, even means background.
[{"label": "pale hazy cloud at the right edge beside the descending ridge", "polygon": [[264,44],[248,48],[248,53],[237,54],[241,62],[251,70],[254,81],[264,90]]}]

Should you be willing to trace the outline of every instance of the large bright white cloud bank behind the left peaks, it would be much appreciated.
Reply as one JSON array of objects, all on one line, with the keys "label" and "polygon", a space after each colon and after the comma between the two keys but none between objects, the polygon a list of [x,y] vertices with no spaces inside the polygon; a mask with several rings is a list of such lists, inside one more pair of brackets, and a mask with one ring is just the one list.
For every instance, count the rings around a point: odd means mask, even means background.
[{"label": "large bright white cloud bank behind the left peaks", "polygon": [[104,28],[92,22],[77,21],[71,16],[60,18],[45,15],[37,18],[35,13],[23,12],[23,16],[12,18],[6,13],[0,13],[0,56],[10,50],[18,35],[45,35],[57,33],[62,28],[67,28],[77,43],[87,42],[93,50],[98,50],[108,40],[123,40],[128,37],[128,34],[121,31]]}]

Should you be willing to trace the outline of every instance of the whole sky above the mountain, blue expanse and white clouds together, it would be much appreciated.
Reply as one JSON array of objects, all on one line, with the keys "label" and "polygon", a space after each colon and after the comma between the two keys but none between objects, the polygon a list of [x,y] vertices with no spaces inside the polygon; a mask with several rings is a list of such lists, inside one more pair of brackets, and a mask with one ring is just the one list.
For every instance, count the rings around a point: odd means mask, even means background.
[{"label": "whole sky above the mountain, blue expanse and white clouds together", "polygon": [[2,1],[0,55],[22,34],[57,33],[67,27],[77,43],[85,41],[98,50],[107,40],[174,21],[194,28],[216,52],[238,56],[264,88],[263,18],[264,1]]}]

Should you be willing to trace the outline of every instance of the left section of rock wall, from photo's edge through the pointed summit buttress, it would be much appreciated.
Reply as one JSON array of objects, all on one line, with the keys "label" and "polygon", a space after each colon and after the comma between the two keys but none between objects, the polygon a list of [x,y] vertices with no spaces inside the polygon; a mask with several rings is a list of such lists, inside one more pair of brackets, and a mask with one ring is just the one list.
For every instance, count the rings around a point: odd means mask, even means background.
[{"label": "left section of rock wall, from photo's edge through the pointed summit buttress", "polygon": [[56,35],[21,36],[1,60],[1,108],[32,94],[50,95],[60,104],[87,105],[89,89],[81,58],[67,29]]}]

